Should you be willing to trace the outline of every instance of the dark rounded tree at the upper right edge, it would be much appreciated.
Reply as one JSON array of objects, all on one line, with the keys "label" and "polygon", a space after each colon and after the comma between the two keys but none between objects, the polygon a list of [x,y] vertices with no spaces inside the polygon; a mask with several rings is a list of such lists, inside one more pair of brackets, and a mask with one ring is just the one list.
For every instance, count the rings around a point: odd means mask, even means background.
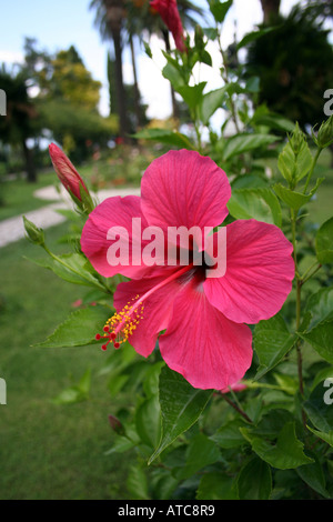
[{"label": "dark rounded tree at the upper right edge", "polygon": [[323,120],[323,93],[333,84],[329,31],[314,12],[297,6],[276,22],[249,46],[246,76],[260,78],[259,103],[303,128],[313,126]]}]

